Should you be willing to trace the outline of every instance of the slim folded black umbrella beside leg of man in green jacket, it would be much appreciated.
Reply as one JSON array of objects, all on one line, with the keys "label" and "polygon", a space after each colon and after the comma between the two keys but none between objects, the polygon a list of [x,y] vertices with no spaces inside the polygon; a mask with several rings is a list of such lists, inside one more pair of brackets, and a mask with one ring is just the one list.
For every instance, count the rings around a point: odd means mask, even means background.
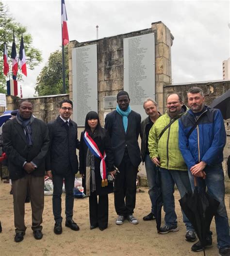
[{"label": "slim folded black umbrella beside leg of man in green jacket", "polygon": [[156,218],[156,224],[157,224],[157,233],[159,233],[159,229],[161,227],[161,209],[163,206],[163,198],[162,198],[162,190],[161,190],[161,173],[159,171],[159,167],[157,167],[156,170],[156,184],[153,188],[154,191],[154,216]]}]

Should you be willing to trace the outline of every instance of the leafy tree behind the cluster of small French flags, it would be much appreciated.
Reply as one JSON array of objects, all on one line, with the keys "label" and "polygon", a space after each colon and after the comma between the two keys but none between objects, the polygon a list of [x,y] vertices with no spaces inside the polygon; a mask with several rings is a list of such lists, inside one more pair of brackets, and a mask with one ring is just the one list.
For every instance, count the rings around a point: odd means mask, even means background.
[{"label": "leafy tree behind the cluster of small French flags", "polygon": [[[42,61],[41,51],[33,48],[32,36],[27,32],[27,28],[16,22],[13,17],[9,14],[8,8],[0,1],[0,93],[6,92],[6,77],[3,75],[3,43],[6,42],[8,50],[8,58],[10,63],[10,78],[12,79],[12,68],[11,68],[11,47],[13,41],[13,32],[15,31],[16,51],[17,56],[20,48],[21,35],[23,34],[24,47],[26,52],[26,66],[29,69],[34,69]],[[22,80],[20,69],[17,73],[17,80]]]}]

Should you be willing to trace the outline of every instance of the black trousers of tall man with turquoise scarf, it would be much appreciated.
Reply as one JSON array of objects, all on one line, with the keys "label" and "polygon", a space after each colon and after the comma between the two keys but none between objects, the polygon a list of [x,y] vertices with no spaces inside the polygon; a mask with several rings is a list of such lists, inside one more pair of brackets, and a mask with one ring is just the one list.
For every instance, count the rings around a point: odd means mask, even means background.
[{"label": "black trousers of tall man with turquoise scarf", "polygon": [[118,166],[114,183],[115,210],[118,215],[131,215],[136,204],[136,175],[138,167],[132,165],[126,151]]}]

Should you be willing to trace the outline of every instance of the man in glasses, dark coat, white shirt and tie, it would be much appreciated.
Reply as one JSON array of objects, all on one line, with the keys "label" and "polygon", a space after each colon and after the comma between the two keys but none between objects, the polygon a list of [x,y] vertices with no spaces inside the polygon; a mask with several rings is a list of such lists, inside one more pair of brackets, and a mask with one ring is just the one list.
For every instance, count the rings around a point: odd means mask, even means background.
[{"label": "man in glasses, dark coat, white shirt and tie", "polygon": [[47,174],[53,179],[53,215],[55,220],[54,233],[62,233],[62,187],[65,180],[66,189],[66,227],[78,231],[79,226],[73,221],[74,181],[78,172],[79,148],[78,127],[70,119],[73,113],[73,102],[60,102],[60,116],[48,124],[50,150],[47,157]]}]

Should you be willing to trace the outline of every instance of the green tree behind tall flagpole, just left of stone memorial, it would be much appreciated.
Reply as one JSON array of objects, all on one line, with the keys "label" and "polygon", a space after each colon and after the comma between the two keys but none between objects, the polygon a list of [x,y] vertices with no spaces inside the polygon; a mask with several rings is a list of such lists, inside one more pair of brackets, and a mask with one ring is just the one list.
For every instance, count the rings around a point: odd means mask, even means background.
[{"label": "green tree behind tall flagpole, just left of stone memorial", "polygon": [[[66,64],[66,92],[69,91],[68,81],[68,47],[65,46]],[[38,96],[53,95],[63,93],[62,78],[62,51],[57,50],[50,54],[48,65],[42,68],[37,77],[35,92]]]}]

